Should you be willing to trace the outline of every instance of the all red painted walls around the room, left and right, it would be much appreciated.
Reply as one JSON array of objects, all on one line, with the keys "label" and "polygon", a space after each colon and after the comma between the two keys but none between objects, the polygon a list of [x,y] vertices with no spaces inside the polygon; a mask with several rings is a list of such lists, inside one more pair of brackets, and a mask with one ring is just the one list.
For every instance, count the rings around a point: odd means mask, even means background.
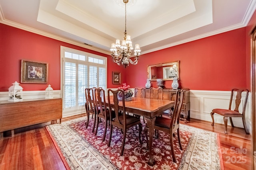
[{"label": "all red painted walls around the room, left and right", "polygon": [[[127,68],[112,63],[110,56],[64,43],[48,37],[0,24],[0,91],[8,91],[13,82],[20,82],[21,59],[49,63],[48,84],[60,90],[60,46],[108,57],[108,88],[112,84],[112,71],[121,72],[121,83],[132,88],[144,87],[147,66],[180,61],[180,88],[191,90],[250,89],[250,25],[160,51],[141,55],[137,65]],[[142,49],[143,50],[143,49]],[[165,81],[171,88],[172,81]],[[156,82],[152,82],[156,87]],[[47,84],[20,84],[26,90],[45,90]]]}]

